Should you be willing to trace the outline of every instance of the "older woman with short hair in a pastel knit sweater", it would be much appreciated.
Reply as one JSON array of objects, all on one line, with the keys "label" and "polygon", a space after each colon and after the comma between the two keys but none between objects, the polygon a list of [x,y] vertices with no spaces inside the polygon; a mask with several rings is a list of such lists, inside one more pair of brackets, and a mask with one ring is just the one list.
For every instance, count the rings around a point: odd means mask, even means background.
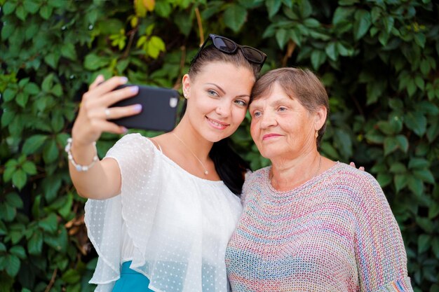
[{"label": "older woman with short hair in a pastel knit sweater", "polygon": [[327,93],[308,70],[257,81],[250,131],[271,167],[245,179],[227,247],[233,291],[412,291],[398,224],[377,181],[318,153]]}]

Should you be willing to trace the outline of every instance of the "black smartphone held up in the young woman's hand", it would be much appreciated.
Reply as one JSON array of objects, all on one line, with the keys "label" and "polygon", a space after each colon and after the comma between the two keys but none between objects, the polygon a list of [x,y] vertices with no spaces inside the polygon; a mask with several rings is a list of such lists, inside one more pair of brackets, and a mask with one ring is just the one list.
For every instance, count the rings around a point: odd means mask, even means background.
[{"label": "black smartphone held up in the young woman's hand", "polygon": [[[115,90],[135,85],[121,85]],[[155,88],[137,85],[139,92],[133,97],[123,99],[112,106],[130,106],[142,104],[142,111],[134,116],[118,118],[112,122],[126,128],[169,132],[174,129],[177,120],[179,93],[170,88]]]}]

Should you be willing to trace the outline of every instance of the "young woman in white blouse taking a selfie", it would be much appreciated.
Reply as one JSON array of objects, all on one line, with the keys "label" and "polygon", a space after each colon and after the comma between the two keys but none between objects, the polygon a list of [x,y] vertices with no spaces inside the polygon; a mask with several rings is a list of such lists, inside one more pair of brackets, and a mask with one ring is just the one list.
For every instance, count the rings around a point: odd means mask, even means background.
[{"label": "young woman in white blouse taking a selfie", "polygon": [[123,77],[90,85],[67,151],[74,186],[89,198],[95,291],[227,291],[224,254],[247,166],[224,139],[243,121],[265,58],[210,34],[182,79],[187,109],[175,130],[152,139],[128,134],[103,160],[94,145],[102,132],[126,131],[108,119],[140,111],[108,107],[137,88],[114,90]]}]

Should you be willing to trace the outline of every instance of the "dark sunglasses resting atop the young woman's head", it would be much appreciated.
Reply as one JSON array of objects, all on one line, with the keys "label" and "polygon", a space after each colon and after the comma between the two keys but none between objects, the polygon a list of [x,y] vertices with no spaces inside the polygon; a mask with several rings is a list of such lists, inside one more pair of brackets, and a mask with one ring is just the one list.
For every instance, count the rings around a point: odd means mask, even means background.
[{"label": "dark sunglasses resting atop the young woman's head", "polygon": [[231,39],[227,39],[224,36],[218,36],[217,34],[209,34],[209,37],[205,39],[203,45],[201,45],[194,59],[192,59],[191,65],[194,64],[194,62],[198,59],[198,56],[200,55],[206,43],[208,43],[210,39],[212,40],[213,46],[217,48],[217,50],[220,50],[222,53],[234,54],[236,53],[236,50],[240,48],[241,52],[243,52],[245,59],[247,59],[249,62],[259,64],[260,67],[262,67],[262,65],[266,60],[265,53],[260,50],[257,50],[249,46],[238,45],[238,43],[235,43]]}]

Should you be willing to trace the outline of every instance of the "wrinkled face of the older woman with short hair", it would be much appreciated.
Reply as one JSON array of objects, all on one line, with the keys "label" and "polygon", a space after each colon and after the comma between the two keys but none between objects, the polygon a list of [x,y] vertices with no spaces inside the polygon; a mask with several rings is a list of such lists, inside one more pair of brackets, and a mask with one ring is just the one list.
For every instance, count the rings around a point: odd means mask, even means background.
[{"label": "wrinkled face of the older woman with short hair", "polygon": [[252,139],[265,158],[294,159],[316,148],[318,115],[288,97],[277,83],[269,95],[253,101],[249,111]]}]

